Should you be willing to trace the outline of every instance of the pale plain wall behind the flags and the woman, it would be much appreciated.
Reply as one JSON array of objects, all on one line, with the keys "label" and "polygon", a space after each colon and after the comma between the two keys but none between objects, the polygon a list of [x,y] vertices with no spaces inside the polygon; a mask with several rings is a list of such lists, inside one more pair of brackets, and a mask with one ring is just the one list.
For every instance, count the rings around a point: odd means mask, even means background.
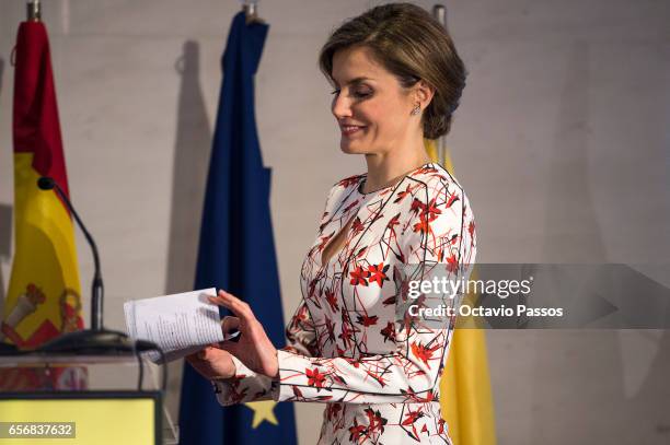
[{"label": "pale plain wall behind the flags and the woman", "polygon": [[[126,298],[190,289],[219,58],[239,2],[45,3],[71,196],[102,251],[107,325],[123,328]],[[326,190],[365,171],[339,152],[316,55],[331,28],[370,3],[261,2],[270,28],[257,124],[274,168],[287,318]],[[477,218],[477,260],[649,264],[645,271],[670,284],[670,3],[447,5],[470,71],[448,141]],[[24,14],[23,2],[0,0],[2,289],[13,202],[9,61]],[[92,261],[77,243],[88,289]],[[500,444],[670,440],[667,332],[487,335]],[[172,371],[176,412],[181,366]],[[296,408],[300,442],[314,443],[322,407]]]}]

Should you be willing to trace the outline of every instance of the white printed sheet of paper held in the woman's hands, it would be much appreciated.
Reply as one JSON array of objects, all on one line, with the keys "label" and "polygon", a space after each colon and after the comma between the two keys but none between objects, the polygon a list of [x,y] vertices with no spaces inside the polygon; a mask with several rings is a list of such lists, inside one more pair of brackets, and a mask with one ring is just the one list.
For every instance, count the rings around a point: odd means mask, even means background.
[{"label": "white printed sheet of paper held in the woman's hands", "polygon": [[[126,302],[128,335],[157,343],[168,362],[223,341],[219,307],[207,295],[215,296],[216,289]],[[157,353],[148,355],[159,362]]]}]

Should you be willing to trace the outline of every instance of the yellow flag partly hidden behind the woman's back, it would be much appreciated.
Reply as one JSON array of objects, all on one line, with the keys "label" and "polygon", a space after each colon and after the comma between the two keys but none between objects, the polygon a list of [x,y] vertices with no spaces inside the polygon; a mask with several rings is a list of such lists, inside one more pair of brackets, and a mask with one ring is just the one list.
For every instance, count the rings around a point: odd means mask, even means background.
[{"label": "yellow flag partly hidden behind the woman's back", "polygon": [[[424,140],[426,152],[436,162],[436,141]],[[444,168],[453,174],[453,165],[447,153],[442,160]],[[477,267],[470,279],[477,279]],[[467,294],[463,304],[476,305],[476,295]],[[472,318],[472,317],[471,317]],[[476,319],[461,320],[453,332],[447,367],[440,380],[440,406],[449,426],[449,436],[454,445],[495,445],[496,425],[488,374],[486,337]]]}]

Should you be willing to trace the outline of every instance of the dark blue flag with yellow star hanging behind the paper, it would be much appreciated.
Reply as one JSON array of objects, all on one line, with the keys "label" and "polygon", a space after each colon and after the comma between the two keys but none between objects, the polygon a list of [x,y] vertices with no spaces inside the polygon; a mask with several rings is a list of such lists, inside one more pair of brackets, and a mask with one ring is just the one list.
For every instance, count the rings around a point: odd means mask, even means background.
[{"label": "dark blue flag with yellow star hanging behind the paper", "polygon": [[[254,74],[267,31],[266,24],[246,25],[240,12],[228,35],[195,289],[224,289],[247,302],[279,348],[285,325],[269,210],[270,169],[263,166],[254,116]],[[297,442],[291,403],[223,408],[211,384],[187,363],[180,430],[184,445]]]}]

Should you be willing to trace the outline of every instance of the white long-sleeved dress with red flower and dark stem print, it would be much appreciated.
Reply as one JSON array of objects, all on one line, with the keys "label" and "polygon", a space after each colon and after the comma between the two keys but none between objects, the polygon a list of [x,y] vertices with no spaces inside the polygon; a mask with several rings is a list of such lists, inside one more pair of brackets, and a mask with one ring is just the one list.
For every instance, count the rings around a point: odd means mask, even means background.
[{"label": "white long-sleeved dress with red flower and dark stem print", "polygon": [[[234,359],[236,376],[213,382],[217,398],[223,406],[326,403],[320,444],[451,444],[439,382],[455,316],[426,327],[396,319],[395,306],[405,298],[403,265],[467,279],[476,255],[472,209],[436,163],[370,194],[361,191],[365,180],[365,174],[351,176],[328,192],[302,265],[303,298],[287,326],[288,346],[278,351],[279,378]],[[342,249],[321,264],[324,247],[346,225]]]}]

